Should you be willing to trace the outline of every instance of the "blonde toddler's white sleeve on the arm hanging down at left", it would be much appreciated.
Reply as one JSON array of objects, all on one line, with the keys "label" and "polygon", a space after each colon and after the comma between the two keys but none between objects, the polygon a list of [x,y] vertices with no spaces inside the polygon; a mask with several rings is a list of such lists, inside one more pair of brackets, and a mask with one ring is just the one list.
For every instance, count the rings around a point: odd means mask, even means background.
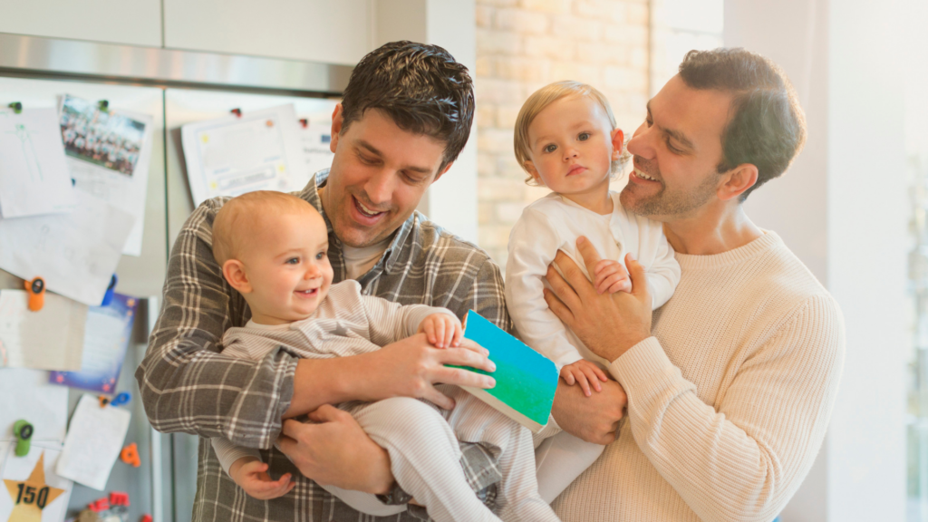
[{"label": "blonde toddler's white sleeve on the arm hanging down at left", "polygon": [[561,235],[548,217],[526,209],[509,234],[506,306],[509,317],[531,346],[561,368],[583,359],[567,337],[567,328],[548,308],[543,290],[548,265],[561,247]]}]

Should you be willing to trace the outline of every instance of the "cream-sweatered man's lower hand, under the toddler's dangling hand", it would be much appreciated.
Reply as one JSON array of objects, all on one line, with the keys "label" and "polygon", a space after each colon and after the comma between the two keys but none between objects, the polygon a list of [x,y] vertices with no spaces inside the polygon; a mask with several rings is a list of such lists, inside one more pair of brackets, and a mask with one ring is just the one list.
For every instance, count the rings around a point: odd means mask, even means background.
[{"label": "cream-sweatered man's lower hand, under the toddler's dangling hand", "polygon": [[625,390],[612,379],[603,383],[602,391],[592,397],[586,397],[580,386],[558,381],[551,414],[567,433],[605,445],[615,440],[627,400]]}]

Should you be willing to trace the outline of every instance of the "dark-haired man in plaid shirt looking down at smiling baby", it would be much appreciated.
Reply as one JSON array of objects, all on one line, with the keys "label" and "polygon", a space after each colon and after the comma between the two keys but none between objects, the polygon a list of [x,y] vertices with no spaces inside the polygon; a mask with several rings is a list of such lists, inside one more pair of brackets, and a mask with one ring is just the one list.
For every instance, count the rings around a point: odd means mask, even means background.
[{"label": "dark-haired man in plaid shirt looking down at smiling baby", "polygon": [[[355,279],[365,294],[447,307],[460,318],[472,308],[509,329],[499,268],[479,248],[415,213],[425,190],[467,143],[473,110],[467,69],[444,49],[381,46],[354,68],[333,114],[331,168],[300,196],[326,218],[333,282]],[[439,350],[422,334],[350,358],[297,359],[284,350],[257,362],[224,357],[216,346],[223,332],[251,315],[211,254],[213,218],[224,202],[201,204],[178,235],[161,317],[135,372],[156,429],[203,437],[194,520],[361,517],[306,476],[343,489],[390,492],[401,502],[387,453],[350,415],[328,405],[406,396],[450,408],[453,402],[434,383],[490,387],[493,379],[445,363],[491,371],[492,363],[479,346]],[[307,413],[316,424],[281,421]],[[286,456],[272,448],[281,430]],[[290,473],[295,487],[272,501],[245,495],[221,469],[207,437],[263,449],[269,474]],[[462,443],[461,450],[470,487],[492,500],[489,487],[499,477],[493,449]],[[419,520],[422,513],[414,507],[389,520]]]}]

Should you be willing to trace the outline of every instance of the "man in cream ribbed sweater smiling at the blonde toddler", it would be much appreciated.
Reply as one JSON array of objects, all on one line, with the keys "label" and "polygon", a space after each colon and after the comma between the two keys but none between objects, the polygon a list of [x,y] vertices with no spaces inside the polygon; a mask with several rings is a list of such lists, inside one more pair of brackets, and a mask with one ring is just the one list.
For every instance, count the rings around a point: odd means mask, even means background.
[{"label": "man in cream ribbed sweater smiling at the blonde toddler", "polygon": [[[563,277],[548,270],[548,306],[612,361],[627,395],[618,424],[618,386],[593,398],[578,386],[558,392],[563,429],[614,438],[554,502],[565,521],[770,522],[806,477],[837,395],[844,324],[831,295],[741,206],[786,170],[805,127],[785,75],[741,49],[691,51],[648,103],[621,201],[664,222],[682,277],[652,319],[633,259],[631,294],[597,294],[564,254]],[[595,265],[595,249],[577,242]]]}]

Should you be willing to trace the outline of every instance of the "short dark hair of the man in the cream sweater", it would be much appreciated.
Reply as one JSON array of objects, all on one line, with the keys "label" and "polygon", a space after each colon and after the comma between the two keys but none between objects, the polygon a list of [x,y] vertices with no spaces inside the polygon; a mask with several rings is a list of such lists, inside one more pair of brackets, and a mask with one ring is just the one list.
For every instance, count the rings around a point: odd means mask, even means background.
[{"label": "short dark hair of the man in the cream sweater", "polygon": [[690,88],[733,94],[717,170],[757,167],[757,182],[741,194],[742,202],[783,174],[806,144],[806,115],[793,85],[769,59],[741,48],[693,50],[680,63],[680,78]]}]

